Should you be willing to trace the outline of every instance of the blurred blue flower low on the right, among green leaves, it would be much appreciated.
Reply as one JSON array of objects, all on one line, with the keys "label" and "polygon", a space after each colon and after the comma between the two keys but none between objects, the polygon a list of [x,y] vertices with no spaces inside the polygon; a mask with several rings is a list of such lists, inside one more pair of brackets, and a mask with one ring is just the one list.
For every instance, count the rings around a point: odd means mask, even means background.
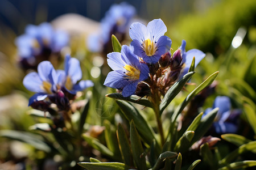
[{"label": "blurred blue flower low on the right, among green leaves", "polygon": [[214,100],[212,108],[205,110],[203,117],[212,109],[219,108],[217,116],[213,122],[214,131],[218,134],[236,133],[238,129],[238,117],[241,111],[238,109],[231,109],[231,102],[227,96],[217,96]]}]

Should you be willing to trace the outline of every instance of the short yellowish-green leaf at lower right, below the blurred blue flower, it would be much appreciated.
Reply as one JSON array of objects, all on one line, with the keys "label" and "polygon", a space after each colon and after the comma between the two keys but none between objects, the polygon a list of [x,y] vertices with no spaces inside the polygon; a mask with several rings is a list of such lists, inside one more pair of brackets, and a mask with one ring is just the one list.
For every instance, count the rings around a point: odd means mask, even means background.
[{"label": "short yellowish-green leaf at lower right, below the blurred blue flower", "polygon": [[237,134],[222,134],[221,138],[230,143],[233,143],[236,146],[241,146],[243,144],[251,142],[250,139],[247,139],[247,138],[245,138],[241,135],[237,135]]}]

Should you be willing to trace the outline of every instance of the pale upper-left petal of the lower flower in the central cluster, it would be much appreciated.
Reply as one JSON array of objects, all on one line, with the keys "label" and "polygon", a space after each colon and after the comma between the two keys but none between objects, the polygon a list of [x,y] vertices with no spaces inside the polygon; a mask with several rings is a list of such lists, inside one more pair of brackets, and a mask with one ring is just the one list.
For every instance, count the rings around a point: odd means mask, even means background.
[{"label": "pale upper-left petal of the lower flower in the central cluster", "polygon": [[108,65],[112,70],[123,70],[123,66],[126,65],[121,57],[121,53],[113,52],[107,55]]}]

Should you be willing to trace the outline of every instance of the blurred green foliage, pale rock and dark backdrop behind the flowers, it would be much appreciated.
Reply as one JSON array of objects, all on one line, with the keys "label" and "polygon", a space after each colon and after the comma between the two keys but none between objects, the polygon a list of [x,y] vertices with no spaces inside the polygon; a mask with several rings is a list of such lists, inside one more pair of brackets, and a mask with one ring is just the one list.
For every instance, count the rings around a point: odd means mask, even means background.
[{"label": "blurred green foliage, pale rock and dark backdrop behind the flowers", "polygon": [[[20,67],[15,45],[16,37],[24,33],[28,24],[39,25],[49,22],[54,28],[63,29],[71,35],[70,47],[63,49],[61,53],[69,52],[82,62],[84,78],[92,79],[96,84],[92,90],[98,98],[94,101],[96,106],[94,110],[100,107],[99,101],[104,99],[109,91],[102,85],[109,67],[103,66],[106,65],[107,52],[112,49],[106,52],[90,52],[86,40],[101,29],[100,23],[106,11],[113,4],[121,2],[123,1],[0,1],[0,129],[29,130],[35,121],[28,114],[24,114],[28,110],[28,98],[32,93],[23,87],[22,80],[28,70]],[[174,51],[184,39],[187,41],[187,50],[196,48],[207,53],[207,57],[196,69],[199,73],[195,75],[196,83],[201,82],[206,75],[219,70],[218,95],[231,97],[233,104],[238,107],[242,107],[244,99],[251,105],[256,103],[256,3],[254,0],[127,2],[135,7],[135,21],[148,23],[156,18],[164,21],[168,30],[166,35],[171,38]],[[130,41],[128,34],[122,44],[129,44]],[[211,107],[213,100],[212,97],[207,101],[205,108]],[[6,139],[0,139],[0,164],[11,159],[8,157],[10,152],[14,155],[18,149],[14,146],[18,144],[14,143],[11,146]],[[31,148],[28,150],[34,151]],[[19,150],[21,155],[15,155],[15,158],[24,158],[24,155],[31,154],[32,151],[25,150],[23,153]],[[33,156],[36,156],[35,159],[40,159],[45,155],[37,150],[36,154],[29,155],[30,158]]]}]

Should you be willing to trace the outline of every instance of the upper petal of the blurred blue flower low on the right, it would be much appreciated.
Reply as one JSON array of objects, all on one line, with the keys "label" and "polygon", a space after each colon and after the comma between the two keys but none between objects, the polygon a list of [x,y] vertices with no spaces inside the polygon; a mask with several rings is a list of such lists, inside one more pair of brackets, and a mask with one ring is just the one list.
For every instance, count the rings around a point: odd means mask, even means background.
[{"label": "upper petal of the blurred blue flower low on the right", "polygon": [[227,96],[217,96],[214,100],[213,108],[219,108],[219,113],[224,113],[230,111],[231,109],[231,102],[229,97]]}]

